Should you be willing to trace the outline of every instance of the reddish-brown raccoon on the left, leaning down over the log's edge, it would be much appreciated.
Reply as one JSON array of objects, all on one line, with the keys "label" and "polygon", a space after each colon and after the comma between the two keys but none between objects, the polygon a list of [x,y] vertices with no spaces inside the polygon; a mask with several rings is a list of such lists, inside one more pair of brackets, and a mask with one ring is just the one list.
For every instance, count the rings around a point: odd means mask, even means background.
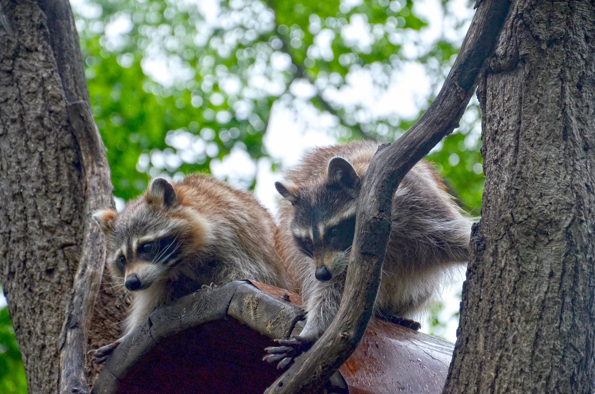
[{"label": "reddish-brown raccoon on the left, leaning down over the log's edge", "polygon": [[[277,225],[256,199],[209,176],[153,180],[120,213],[96,211],[107,270],[132,294],[124,336],[157,307],[209,283],[253,279],[287,286]],[[99,364],[123,339],[92,351]]]}]

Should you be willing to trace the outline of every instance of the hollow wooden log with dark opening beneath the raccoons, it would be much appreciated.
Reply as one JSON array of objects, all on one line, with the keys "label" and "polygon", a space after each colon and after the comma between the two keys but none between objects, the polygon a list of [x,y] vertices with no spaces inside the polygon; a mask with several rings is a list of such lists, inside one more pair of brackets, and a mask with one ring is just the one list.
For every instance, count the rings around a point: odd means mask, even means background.
[{"label": "hollow wooden log with dark opening beneath the raccoons", "polygon": [[[153,312],[115,349],[92,392],[262,393],[281,375],[262,361],[263,349],[299,333],[300,305],[293,293],[248,281],[180,298]],[[324,388],[439,393],[452,351],[450,342],[373,318]]]}]

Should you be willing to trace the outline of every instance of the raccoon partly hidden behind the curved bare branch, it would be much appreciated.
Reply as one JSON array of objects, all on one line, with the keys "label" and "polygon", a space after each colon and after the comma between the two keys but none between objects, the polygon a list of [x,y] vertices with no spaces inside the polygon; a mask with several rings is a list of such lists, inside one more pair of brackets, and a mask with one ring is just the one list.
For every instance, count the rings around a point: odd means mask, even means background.
[{"label": "raccoon partly hidden behind the curved bare branch", "polygon": [[[275,187],[284,248],[297,273],[292,282],[308,311],[300,336],[267,348],[269,362],[292,358],[321,336],[341,301],[362,179],[376,142],[315,148]],[[375,315],[419,329],[428,302],[449,268],[466,264],[472,220],[453,201],[426,161],[405,176],[392,204],[392,231],[384,257]]]}]

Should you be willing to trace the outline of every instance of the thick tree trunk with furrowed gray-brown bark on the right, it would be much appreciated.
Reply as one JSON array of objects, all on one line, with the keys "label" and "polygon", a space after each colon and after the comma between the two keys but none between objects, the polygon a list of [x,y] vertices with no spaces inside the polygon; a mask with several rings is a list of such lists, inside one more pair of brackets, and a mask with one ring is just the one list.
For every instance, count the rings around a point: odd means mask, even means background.
[{"label": "thick tree trunk with furrowed gray-brown bark on the right", "polygon": [[496,54],[444,393],[593,393],[595,3],[513,2]]}]

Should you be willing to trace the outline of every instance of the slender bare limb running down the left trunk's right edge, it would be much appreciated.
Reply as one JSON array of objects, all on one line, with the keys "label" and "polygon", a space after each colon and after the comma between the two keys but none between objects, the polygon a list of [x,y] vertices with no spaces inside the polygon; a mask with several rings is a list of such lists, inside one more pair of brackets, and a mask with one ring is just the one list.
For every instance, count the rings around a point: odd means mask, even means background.
[{"label": "slender bare limb running down the left trunk's right edge", "polygon": [[68,295],[60,340],[59,393],[87,392],[88,330],[105,262],[104,234],[91,219],[94,209],[114,207],[113,187],[105,147],[99,136],[89,102],[79,35],[70,3],[39,0],[46,15],[49,43],[60,75],[67,119],[79,151],[83,181],[83,243],[79,267]]}]

